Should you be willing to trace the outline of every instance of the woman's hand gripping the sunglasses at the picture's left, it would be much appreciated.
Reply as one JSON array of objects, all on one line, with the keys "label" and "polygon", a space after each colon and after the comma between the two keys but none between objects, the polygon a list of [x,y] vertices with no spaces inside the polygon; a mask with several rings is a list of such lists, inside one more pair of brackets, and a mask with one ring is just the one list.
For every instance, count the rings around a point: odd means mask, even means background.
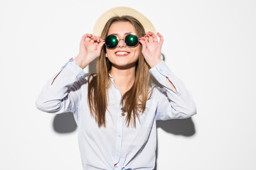
[{"label": "woman's hand gripping the sunglasses at the picture's left", "polygon": [[99,36],[89,33],[82,35],[79,54],[74,59],[75,63],[82,69],[85,69],[90,62],[100,57],[100,52],[104,44],[105,40],[100,39]]}]

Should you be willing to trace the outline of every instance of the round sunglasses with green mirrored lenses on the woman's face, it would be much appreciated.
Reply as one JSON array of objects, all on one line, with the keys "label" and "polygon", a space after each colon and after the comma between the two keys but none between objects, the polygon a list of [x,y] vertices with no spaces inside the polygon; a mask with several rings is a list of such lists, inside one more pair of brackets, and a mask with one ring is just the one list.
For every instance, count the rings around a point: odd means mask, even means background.
[{"label": "round sunglasses with green mirrored lenses on the woman's face", "polygon": [[128,47],[135,47],[139,43],[139,38],[135,34],[128,34],[124,39],[119,39],[115,35],[108,35],[107,38],[105,38],[105,45],[109,49],[114,49],[117,47],[119,40],[124,40]]}]

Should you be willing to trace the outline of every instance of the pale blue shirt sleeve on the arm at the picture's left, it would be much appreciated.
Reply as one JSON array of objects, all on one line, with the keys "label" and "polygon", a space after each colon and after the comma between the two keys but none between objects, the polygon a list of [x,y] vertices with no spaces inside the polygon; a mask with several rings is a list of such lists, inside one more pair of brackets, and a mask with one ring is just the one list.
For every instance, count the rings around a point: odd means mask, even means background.
[{"label": "pale blue shirt sleeve on the arm at the picture's left", "polygon": [[71,58],[43,86],[36,99],[36,108],[47,113],[74,113],[80,101],[80,86],[85,82],[81,81],[84,76],[83,69]]}]

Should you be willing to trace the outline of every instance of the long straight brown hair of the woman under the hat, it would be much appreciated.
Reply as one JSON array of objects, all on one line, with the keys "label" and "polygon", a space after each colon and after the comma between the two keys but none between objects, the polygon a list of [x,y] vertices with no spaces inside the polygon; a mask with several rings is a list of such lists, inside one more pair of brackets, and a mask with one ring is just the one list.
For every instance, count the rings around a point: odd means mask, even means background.
[{"label": "long straight brown hair of the woman under the hat", "polygon": [[[106,38],[107,33],[112,23],[117,21],[128,21],[132,23],[134,29],[139,37],[142,37],[145,30],[139,21],[132,16],[114,16],[110,18],[105,24],[105,28],[102,30],[101,38]],[[140,45],[140,44],[139,44]],[[105,113],[107,111],[107,89],[110,86],[109,72],[112,68],[110,60],[106,55],[105,45],[102,47],[100,57],[97,58],[97,73],[90,74],[88,81],[88,104],[90,107],[90,113],[95,117],[99,128],[103,125],[106,126]],[[135,81],[131,89],[129,89],[122,96],[122,106],[124,111],[127,112],[126,123],[127,126],[132,123],[136,127],[136,117],[139,118],[139,112],[144,113],[146,108],[146,101],[151,98],[151,94],[148,98],[148,90],[151,86],[149,80],[151,74],[149,73],[149,65],[144,60],[142,55],[142,45],[140,45],[139,59],[135,67]],[[92,79],[90,79],[92,77]],[[107,77],[107,78],[106,78]],[[152,91],[151,91],[152,92]]]}]

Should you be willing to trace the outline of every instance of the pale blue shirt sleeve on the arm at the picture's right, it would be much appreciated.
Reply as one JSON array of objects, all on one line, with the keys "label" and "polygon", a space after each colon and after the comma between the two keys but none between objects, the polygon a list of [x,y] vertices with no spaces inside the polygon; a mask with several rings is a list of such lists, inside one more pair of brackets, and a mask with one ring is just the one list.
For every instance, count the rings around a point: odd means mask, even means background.
[{"label": "pale blue shirt sleeve on the arm at the picture's right", "polygon": [[[196,103],[191,92],[186,89],[183,81],[171,72],[164,61],[149,69],[149,72],[160,84],[156,86],[156,120],[183,119],[196,114]],[[171,89],[166,77],[175,86],[177,93]]]}]

